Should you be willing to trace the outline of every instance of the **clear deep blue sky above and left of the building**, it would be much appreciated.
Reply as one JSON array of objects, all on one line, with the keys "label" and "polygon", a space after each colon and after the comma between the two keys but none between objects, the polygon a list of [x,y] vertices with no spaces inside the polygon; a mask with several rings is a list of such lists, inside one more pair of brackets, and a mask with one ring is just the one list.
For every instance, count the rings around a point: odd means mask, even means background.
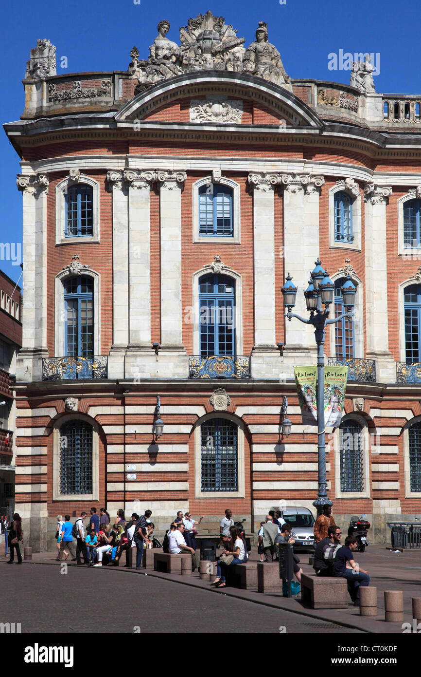
[{"label": "clear deep blue sky above and left of the building", "polygon": [[[137,0],[135,0],[137,1]],[[349,83],[349,71],[328,70],[328,54],[343,52],[380,53],[376,90],[384,93],[421,93],[420,0],[397,3],[376,0],[345,3],[337,0],[242,0],[205,3],[141,0],[24,0],[4,3],[3,96],[1,123],[19,119],[24,108],[22,78],[26,60],[37,38],[48,38],[57,46],[57,74],[90,70],[126,70],[130,49],[137,45],[141,58],[157,35],[157,22],[171,23],[170,39],[179,42],[178,28],[191,16],[212,9],[237,28],[247,46],[254,39],[258,21],[266,21],[269,40],[274,43],[287,73],[293,78],[312,78]],[[60,57],[68,68],[59,67]],[[22,240],[22,196],[16,188],[19,158],[0,133],[0,242]],[[21,269],[11,261],[0,268],[17,281]]]}]

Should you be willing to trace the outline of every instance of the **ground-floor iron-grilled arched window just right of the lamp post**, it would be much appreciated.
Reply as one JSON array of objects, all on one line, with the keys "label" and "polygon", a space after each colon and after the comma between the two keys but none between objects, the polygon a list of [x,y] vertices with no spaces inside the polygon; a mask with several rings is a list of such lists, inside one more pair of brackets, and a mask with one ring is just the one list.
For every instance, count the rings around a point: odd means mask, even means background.
[{"label": "ground-floor iron-grilled arched window just right of the lamp post", "polygon": [[364,441],[362,425],[347,420],[339,427],[341,492],[364,491]]}]

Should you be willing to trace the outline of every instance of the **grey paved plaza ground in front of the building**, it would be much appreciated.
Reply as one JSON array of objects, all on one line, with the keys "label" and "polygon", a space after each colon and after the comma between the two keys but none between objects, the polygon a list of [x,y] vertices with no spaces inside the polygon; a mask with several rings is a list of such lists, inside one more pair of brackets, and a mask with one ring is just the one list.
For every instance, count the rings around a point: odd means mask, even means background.
[{"label": "grey paved plaza ground in front of the building", "polygon": [[[352,606],[312,610],[280,594],[213,590],[197,572],[178,576],[72,563],[63,575],[54,557],[55,552],[35,553],[22,566],[0,560],[1,618],[20,623],[22,633],[401,634],[400,623],[384,620],[383,592],[403,590],[404,621],[410,623],[412,597],[421,596],[421,550],[391,552],[385,546],[369,546],[355,556],[377,588],[378,616],[372,618],[360,617]],[[300,554],[304,573],[313,571],[308,557]],[[255,549],[251,559],[257,559]]]}]

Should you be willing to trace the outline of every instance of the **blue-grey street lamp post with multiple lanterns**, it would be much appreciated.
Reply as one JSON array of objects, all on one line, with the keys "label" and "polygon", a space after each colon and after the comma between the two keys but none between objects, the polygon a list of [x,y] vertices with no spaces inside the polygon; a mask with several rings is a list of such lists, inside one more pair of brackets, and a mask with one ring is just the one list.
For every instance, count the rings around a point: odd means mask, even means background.
[{"label": "blue-grey street lamp post with multiple lanterns", "polygon": [[[329,306],[334,299],[335,284],[330,280],[327,271],[322,268],[321,262],[316,261],[316,267],[312,271],[312,280],[304,292],[305,304],[310,316],[307,320],[301,318],[300,315],[292,312],[295,306],[295,297],[297,296],[297,287],[292,282],[291,276],[288,274],[287,281],[282,287],[282,294],[284,297],[284,307],[287,308],[285,317],[291,322],[292,318],[297,318],[304,324],[312,324],[314,326],[314,336],[316,336],[317,343],[317,431],[318,431],[318,496],[313,505],[317,509],[318,514],[322,512],[324,506],[333,505],[332,501],[328,499],[326,493],[326,445],[324,441],[324,339],[326,336],[326,324],[335,324],[348,318],[352,320],[352,308],[354,305],[355,288],[350,276],[348,275],[345,283],[341,287],[343,305],[346,312],[339,315],[338,318],[329,320]],[[322,303],[324,304],[324,311],[322,310]]]}]

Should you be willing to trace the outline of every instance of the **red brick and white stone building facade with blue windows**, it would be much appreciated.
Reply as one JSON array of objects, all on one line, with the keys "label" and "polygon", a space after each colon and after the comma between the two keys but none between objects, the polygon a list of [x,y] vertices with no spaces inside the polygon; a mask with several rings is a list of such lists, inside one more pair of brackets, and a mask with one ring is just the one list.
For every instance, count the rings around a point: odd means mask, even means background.
[{"label": "red brick and white stone building facade with blue windows", "polygon": [[249,531],[280,501],[312,508],[293,367],[316,345],[280,288],[289,272],[305,315],[320,256],[357,286],[353,324],[326,333],[349,366],[328,494],[381,541],[421,511],[421,96],[376,93],[367,62],[349,86],[289,77],[263,22],[248,46],[209,12],[169,29],[114,72],[57,75],[38,41],[5,125],[22,158],[24,526],[44,549],[58,513],[91,506],[149,507],[161,533],[179,509],[214,531],[229,506]]}]

